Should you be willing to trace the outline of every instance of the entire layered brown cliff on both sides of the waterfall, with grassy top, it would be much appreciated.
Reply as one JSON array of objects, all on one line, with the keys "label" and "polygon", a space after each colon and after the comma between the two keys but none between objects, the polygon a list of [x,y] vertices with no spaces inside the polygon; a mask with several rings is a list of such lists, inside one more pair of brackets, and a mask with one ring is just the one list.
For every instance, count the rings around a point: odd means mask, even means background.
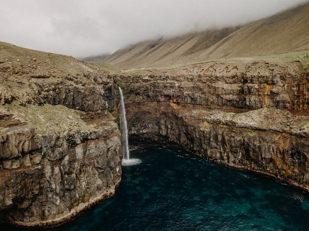
[{"label": "entire layered brown cliff on both sides of the waterfall, with grassy top", "polygon": [[302,52],[111,75],[68,56],[0,48],[1,221],[56,226],[115,194],[118,86],[131,141],[178,146],[309,191]]}]

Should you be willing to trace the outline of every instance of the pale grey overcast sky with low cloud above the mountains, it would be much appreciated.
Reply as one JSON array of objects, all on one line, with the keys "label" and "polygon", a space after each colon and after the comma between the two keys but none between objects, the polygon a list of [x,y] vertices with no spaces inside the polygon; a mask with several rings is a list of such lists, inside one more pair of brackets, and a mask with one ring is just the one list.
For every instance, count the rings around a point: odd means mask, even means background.
[{"label": "pale grey overcast sky with low cloud above the mountains", "polygon": [[83,58],[194,29],[254,21],[308,0],[1,0],[0,41]]}]

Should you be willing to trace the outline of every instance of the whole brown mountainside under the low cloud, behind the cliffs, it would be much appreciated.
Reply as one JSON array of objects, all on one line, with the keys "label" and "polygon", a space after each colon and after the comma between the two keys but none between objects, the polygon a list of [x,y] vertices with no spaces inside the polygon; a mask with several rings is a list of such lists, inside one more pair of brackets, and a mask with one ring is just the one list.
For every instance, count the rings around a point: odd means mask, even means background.
[{"label": "whole brown mountainside under the low cloud, behind the cliffs", "polygon": [[211,29],[144,41],[110,56],[87,57],[116,67],[159,67],[215,58],[252,57],[309,49],[309,2],[244,27]]}]

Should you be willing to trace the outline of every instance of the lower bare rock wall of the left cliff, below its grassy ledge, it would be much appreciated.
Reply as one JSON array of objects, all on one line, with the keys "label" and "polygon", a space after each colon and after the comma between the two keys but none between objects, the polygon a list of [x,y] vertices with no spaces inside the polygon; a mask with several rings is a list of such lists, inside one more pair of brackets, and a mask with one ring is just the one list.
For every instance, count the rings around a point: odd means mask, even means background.
[{"label": "lower bare rock wall of the left cliff, below its grassy ledge", "polygon": [[3,221],[48,227],[114,195],[121,181],[118,126],[37,134],[21,126],[0,134]]}]

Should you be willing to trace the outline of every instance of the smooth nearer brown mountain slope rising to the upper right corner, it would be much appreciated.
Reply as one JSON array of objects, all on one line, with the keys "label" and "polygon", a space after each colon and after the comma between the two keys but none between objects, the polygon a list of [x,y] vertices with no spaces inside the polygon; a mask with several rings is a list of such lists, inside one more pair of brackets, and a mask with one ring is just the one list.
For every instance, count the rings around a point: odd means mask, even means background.
[{"label": "smooth nearer brown mountain slope rising to the upper right corner", "polygon": [[309,48],[309,3],[240,28],[199,55],[200,60],[251,57]]}]

